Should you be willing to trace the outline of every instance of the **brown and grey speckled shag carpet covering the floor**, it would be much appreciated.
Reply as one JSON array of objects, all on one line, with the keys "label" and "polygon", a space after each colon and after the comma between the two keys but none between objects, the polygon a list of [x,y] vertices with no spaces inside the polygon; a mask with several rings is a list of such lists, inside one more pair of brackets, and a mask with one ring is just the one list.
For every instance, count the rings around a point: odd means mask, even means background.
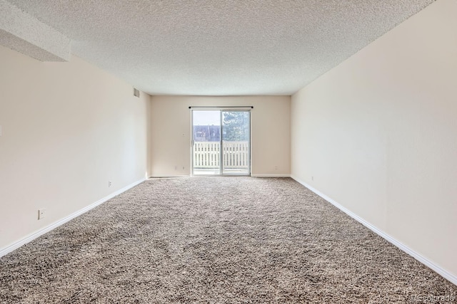
[{"label": "brown and grey speckled shag carpet covering the floor", "polygon": [[150,179],[0,258],[0,303],[423,303],[456,293],[292,179]]}]

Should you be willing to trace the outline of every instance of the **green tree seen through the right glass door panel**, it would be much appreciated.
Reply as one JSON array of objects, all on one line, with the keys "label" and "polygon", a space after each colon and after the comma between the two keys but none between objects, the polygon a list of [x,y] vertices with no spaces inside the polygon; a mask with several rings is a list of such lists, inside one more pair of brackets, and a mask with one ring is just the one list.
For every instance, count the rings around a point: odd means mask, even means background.
[{"label": "green tree seen through the right glass door panel", "polygon": [[224,127],[222,140],[241,142],[249,140],[249,112],[222,112]]}]

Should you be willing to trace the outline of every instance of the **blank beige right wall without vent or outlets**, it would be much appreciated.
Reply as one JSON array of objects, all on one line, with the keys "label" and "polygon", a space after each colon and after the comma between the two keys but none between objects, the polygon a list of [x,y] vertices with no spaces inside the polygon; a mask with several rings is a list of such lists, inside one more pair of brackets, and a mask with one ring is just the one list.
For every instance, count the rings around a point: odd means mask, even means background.
[{"label": "blank beige right wall without vent or outlets", "polygon": [[291,117],[294,178],[453,276],[456,16],[431,4],[293,95]]}]

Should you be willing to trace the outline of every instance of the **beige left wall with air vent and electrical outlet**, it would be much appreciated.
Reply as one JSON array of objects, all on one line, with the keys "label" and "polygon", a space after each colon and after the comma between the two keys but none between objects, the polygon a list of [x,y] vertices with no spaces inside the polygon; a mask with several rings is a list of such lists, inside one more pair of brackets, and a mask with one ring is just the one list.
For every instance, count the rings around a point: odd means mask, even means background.
[{"label": "beige left wall with air vent and electrical outlet", "polygon": [[0,249],[146,177],[150,96],[132,95],[79,58],[0,46]]}]

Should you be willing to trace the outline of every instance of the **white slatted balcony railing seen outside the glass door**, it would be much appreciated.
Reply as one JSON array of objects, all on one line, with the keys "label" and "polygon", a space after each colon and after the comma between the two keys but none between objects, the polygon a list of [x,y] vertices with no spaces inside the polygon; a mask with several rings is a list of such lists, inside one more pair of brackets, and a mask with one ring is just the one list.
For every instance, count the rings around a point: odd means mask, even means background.
[{"label": "white slatted balcony railing seen outside the glass door", "polygon": [[[248,169],[248,142],[222,142],[222,167],[224,169]],[[221,167],[220,142],[194,142],[194,168],[216,169]]]}]

